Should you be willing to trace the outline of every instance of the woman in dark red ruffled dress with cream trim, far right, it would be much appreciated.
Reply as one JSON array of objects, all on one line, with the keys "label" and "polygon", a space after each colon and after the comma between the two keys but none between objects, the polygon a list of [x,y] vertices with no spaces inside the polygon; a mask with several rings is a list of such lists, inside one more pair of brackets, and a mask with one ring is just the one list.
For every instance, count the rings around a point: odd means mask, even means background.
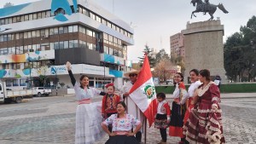
[{"label": "woman in dark red ruffled dress with cream trim, far right", "polygon": [[206,69],[199,72],[199,79],[203,84],[196,90],[197,102],[183,127],[186,140],[190,144],[224,143],[218,86],[210,80]]}]

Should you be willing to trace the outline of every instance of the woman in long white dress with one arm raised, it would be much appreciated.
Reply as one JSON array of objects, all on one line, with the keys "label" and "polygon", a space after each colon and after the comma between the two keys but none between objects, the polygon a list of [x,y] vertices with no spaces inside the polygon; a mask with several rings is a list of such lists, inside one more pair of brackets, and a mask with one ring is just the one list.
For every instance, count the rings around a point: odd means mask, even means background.
[{"label": "woman in long white dress with one arm raised", "polygon": [[105,95],[105,93],[95,88],[89,88],[89,78],[85,75],[80,77],[80,83],[76,82],[71,71],[71,63],[67,61],[66,66],[76,99],[79,101],[76,111],[75,144],[92,144],[103,137],[104,131],[101,126],[102,114],[90,99],[94,95]]}]

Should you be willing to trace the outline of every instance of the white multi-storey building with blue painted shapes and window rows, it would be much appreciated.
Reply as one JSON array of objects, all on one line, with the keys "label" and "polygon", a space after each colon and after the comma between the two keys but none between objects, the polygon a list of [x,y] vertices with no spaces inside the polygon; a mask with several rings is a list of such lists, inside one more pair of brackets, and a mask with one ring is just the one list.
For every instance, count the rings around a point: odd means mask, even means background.
[{"label": "white multi-storey building with blue painted shapes and window rows", "polygon": [[0,78],[11,89],[37,86],[39,76],[49,78],[46,85],[72,87],[67,60],[78,80],[86,74],[90,86],[114,82],[119,88],[133,44],[131,26],[92,0],[41,0],[0,9]]}]

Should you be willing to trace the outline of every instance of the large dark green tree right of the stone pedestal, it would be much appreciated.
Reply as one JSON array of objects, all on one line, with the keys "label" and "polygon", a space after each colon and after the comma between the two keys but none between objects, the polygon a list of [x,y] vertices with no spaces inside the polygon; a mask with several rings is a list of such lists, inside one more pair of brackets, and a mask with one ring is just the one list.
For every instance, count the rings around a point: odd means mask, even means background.
[{"label": "large dark green tree right of the stone pedestal", "polygon": [[[256,17],[224,44],[224,68],[231,81],[253,81],[256,76]],[[238,77],[238,79],[237,79]]]}]

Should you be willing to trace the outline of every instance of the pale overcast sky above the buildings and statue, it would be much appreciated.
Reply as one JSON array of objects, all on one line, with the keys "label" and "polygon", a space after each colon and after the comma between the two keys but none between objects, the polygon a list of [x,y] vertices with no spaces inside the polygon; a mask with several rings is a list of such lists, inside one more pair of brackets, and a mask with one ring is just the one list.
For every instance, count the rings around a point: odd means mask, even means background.
[{"label": "pale overcast sky above the buildings and statue", "polygon": [[[10,2],[15,5],[31,3],[38,0],[1,0],[3,4]],[[128,60],[139,60],[143,56],[145,44],[157,51],[166,49],[170,54],[170,37],[186,28],[186,24],[208,20],[209,14],[197,13],[190,19],[195,10],[190,0],[95,0],[97,4],[131,24],[134,28],[135,44],[128,47]],[[209,0],[212,4],[223,3],[230,13],[224,14],[217,9],[215,20],[220,18],[224,25],[224,42],[231,34],[240,32],[241,26],[256,15],[255,0]]]}]

